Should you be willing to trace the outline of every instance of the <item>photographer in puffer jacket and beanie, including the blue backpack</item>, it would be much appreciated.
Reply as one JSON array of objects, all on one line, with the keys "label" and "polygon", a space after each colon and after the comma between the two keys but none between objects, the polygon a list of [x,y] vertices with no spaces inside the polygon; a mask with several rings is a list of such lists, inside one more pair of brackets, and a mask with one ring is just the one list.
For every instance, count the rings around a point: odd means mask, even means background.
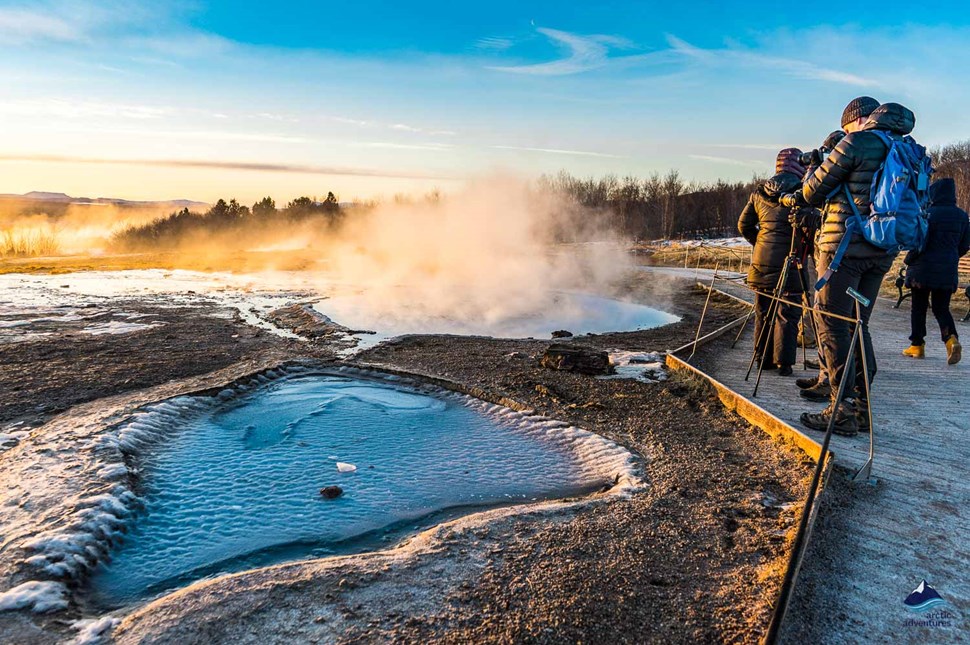
[{"label": "photographer in puffer jacket and beanie, including the blue backpack", "polygon": [[[909,136],[916,125],[913,112],[898,103],[886,103],[864,119],[862,114],[872,101],[860,97],[846,106],[842,117],[845,138],[802,189],[809,205],[824,205],[818,238],[818,270],[822,274],[817,285],[819,310],[854,318],[856,301],[849,289],[868,301],[860,306],[860,315],[870,383],[876,374],[876,356],[868,322],[879,287],[900,246],[921,244],[920,226],[925,232],[925,220],[920,223],[920,200],[929,187],[931,172],[925,149]],[[904,163],[909,168],[905,173],[899,168]],[[893,202],[892,217],[880,212],[887,200]],[[860,426],[868,431],[861,356],[856,357],[855,374],[844,373],[849,353],[855,350],[851,346],[854,325],[825,315],[819,316],[819,323],[831,400],[821,413],[802,414],[801,421],[810,429],[826,430],[834,416],[833,431],[837,434],[853,436]],[[854,387],[847,384],[842,400],[837,400],[843,378],[852,378]]]}]

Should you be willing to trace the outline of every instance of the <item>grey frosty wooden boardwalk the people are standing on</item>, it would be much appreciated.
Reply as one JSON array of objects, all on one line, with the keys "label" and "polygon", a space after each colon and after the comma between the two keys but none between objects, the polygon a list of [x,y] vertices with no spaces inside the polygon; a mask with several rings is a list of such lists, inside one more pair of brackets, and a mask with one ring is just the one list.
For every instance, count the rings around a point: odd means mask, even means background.
[{"label": "grey frosty wooden boardwalk the people are standing on", "polygon": [[[697,277],[709,284],[710,275],[702,270]],[[718,285],[750,300],[743,287]],[[909,344],[909,304],[899,310],[892,304],[880,299],[870,325],[878,361],[872,394],[877,481],[849,481],[866,461],[868,435],[834,436],[836,470],[822,496],[785,642],[970,642],[970,356],[959,365],[946,364],[932,314],[927,358],[902,356]],[[957,305],[954,313],[962,316],[964,310]],[[957,325],[964,340],[970,339],[970,324]],[[728,348],[731,334],[697,365],[749,398],[756,378],[752,373],[744,380],[751,328],[736,349]],[[796,369],[795,377],[805,375]],[[752,400],[821,442],[822,433],[802,427],[799,416],[824,404],[799,397],[794,378],[766,372]],[[914,613],[903,600],[924,579],[947,603]],[[939,617],[941,610],[949,626],[909,622]]]}]

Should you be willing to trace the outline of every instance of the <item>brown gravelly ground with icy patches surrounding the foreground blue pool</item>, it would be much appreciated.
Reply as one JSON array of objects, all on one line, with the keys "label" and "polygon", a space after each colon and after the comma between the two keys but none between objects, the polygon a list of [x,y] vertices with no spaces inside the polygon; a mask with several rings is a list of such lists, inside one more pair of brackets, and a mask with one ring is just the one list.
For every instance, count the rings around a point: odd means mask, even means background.
[{"label": "brown gravelly ground with icy patches surrounding the foreground blue pool", "polygon": [[[703,296],[686,281],[635,273],[621,292],[681,321],[564,342],[647,353],[692,339]],[[537,358],[550,341],[538,339],[410,335],[349,355],[344,336],[313,333],[312,317],[277,321],[313,340],[281,336],[268,311],[228,296],[88,304],[92,319],[49,312],[31,327],[41,335],[0,344],[3,503],[28,515],[32,504],[42,514],[43,491],[14,496],[17,482],[3,481],[26,451],[49,445],[55,458],[66,428],[97,434],[145,404],[293,362],[417,373],[505,397],[623,446],[641,483],[415,527],[383,551],[204,580],[107,615],[81,583],[50,612],[0,612],[4,642],[751,642],[767,625],[810,464],[693,381],[548,370]],[[731,307],[716,303],[705,328],[734,317]],[[3,319],[7,331],[18,316]],[[28,579],[18,563],[30,533],[5,527],[0,590]]]}]

